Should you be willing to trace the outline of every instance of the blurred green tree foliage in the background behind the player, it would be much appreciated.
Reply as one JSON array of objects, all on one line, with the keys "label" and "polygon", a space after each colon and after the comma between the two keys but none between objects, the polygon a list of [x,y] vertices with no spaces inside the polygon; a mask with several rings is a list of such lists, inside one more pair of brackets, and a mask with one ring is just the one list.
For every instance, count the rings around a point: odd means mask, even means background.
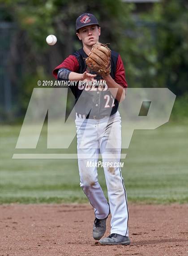
[{"label": "blurred green tree foliage in the background behind the player", "polygon": [[[84,12],[96,15],[100,40],[121,54],[129,87],[168,87],[176,95],[187,92],[185,0],[162,0],[144,13],[121,0],[5,0],[1,9],[1,19],[17,23],[9,65],[23,113],[38,76],[52,79],[53,68],[81,47],[75,20]],[[55,46],[46,44],[49,34],[57,36]]]}]

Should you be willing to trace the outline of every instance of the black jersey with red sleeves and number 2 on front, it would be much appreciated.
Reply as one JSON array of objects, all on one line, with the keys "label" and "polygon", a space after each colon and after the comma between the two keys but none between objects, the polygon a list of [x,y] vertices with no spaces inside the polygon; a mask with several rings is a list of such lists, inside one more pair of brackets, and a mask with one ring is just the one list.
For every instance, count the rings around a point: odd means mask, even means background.
[{"label": "black jersey with red sleeves and number 2 on front", "polygon": [[[96,74],[89,70],[86,66],[85,58],[88,55],[85,54],[83,48],[79,49],[72,55],[69,55],[59,66],[57,66],[53,70],[53,75],[58,78],[58,71],[61,68],[66,68],[72,72],[77,73],[84,73],[85,71],[90,72],[92,74]],[[127,88],[127,82],[125,80],[125,71],[124,71],[124,64],[120,57],[120,54],[111,51],[111,77],[115,80],[116,83],[121,85],[124,88]],[[110,90],[108,89],[107,85],[104,86],[102,83],[103,78],[99,75],[95,77],[96,80],[100,81],[102,86],[83,86],[79,85],[79,82],[76,85],[70,85],[69,88],[73,92],[76,102],[79,99],[80,95],[83,91],[81,101],[78,101],[76,112],[80,114],[85,114],[86,116],[88,113],[92,116],[109,116],[115,114],[118,109],[118,101],[114,99],[111,95]],[[99,83],[98,83],[99,84]]]}]

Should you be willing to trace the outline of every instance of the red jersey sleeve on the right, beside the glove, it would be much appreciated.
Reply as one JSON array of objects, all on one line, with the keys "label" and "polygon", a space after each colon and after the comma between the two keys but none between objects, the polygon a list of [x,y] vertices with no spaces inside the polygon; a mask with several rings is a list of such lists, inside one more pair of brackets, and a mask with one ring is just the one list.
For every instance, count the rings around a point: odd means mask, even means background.
[{"label": "red jersey sleeve on the right, beside the glove", "polygon": [[123,86],[124,88],[128,87],[127,81],[125,79],[124,63],[120,57],[120,54],[118,55],[118,60],[116,63],[115,79],[114,80],[116,83]]}]

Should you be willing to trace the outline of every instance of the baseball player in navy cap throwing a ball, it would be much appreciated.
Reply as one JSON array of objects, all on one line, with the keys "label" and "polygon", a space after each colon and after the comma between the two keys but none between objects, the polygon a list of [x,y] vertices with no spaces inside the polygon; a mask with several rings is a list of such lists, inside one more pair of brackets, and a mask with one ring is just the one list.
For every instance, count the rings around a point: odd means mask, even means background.
[{"label": "baseball player in navy cap throwing a ball", "polygon": [[[128,245],[130,240],[127,195],[120,167],[116,167],[121,156],[121,117],[118,105],[124,100],[128,86],[124,65],[120,54],[114,51],[110,52],[110,63],[106,71],[101,72],[103,69],[98,69],[98,72],[95,72],[86,65],[85,60],[92,57],[92,47],[96,46],[101,33],[98,20],[93,14],[80,15],[76,20],[76,31],[83,48],[64,59],[54,69],[53,75],[58,80],[78,81],[76,86],[70,85],[69,88],[76,99],[75,123],[80,186],[94,207],[93,238],[101,244]],[[98,55],[101,49],[104,50],[97,45]],[[95,63],[90,65],[94,66]],[[105,81],[106,84],[88,87],[84,83],[79,84],[79,81]],[[98,183],[99,153],[103,158],[109,202]],[[92,164],[88,166],[88,162]],[[110,213],[111,234],[102,238]]]}]

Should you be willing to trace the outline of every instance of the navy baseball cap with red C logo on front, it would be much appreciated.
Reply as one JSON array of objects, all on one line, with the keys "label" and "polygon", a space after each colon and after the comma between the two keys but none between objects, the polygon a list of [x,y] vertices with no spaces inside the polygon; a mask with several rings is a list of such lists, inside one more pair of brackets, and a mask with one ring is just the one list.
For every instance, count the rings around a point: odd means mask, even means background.
[{"label": "navy baseball cap with red C logo on front", "polygon": [[83,13],[76,20],[76,31],[79,28],[89,26],[89,25],[98,25],[97,18],[91,13]]}]

